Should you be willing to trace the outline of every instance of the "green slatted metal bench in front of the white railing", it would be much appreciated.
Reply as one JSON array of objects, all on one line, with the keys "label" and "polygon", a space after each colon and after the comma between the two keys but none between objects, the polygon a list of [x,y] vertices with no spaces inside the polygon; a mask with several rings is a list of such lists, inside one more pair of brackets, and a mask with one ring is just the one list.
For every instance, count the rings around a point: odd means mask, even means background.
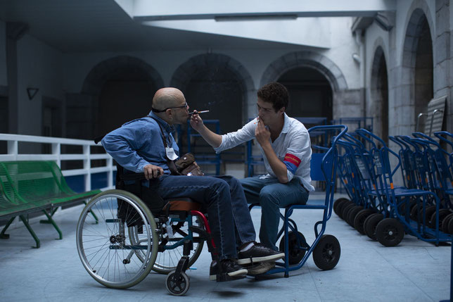
[{"label": "green slatted metal bench in front of the white railing", "polygon": [[18,216],[36,241],[35,247],[39,248],[39,239],[24,215],[42,211],[47,218],[45,222],[51,223],[58,232],[59,239],[63,239],[62,232],[52,219],[56,209],[79,203],[100,192],[101,190],[83,193],[72,191],[53,161],[0,162],[0,218],[10,218],[0,232],[0,238],[9,237],[5,234],[6,229]]}]

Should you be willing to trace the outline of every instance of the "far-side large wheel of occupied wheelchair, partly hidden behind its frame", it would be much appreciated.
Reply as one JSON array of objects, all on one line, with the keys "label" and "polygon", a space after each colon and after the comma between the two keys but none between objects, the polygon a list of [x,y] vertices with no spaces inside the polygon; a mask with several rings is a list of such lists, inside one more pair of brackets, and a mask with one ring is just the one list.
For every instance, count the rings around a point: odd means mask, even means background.
[{"label": "far-side large wheel of occupied wheelchair, partly hidden behind its frame", "polygon": [[[195,227],[200,227],[204,229],[203,222],[199,222],[198,219],[192,216],[192,225]],[[179,244],[174,248],[170,248],[170,246],[177,244],[178,241],[181,241],[184,237],[188,236],[189,234],[189,225],[184,223],[181,227],[178,227],[178,222],[171,222],[173,226],[173,238],[167,237],[167,244],[165,245],[167,248],[164,251],[160,251],[155,258],[155,262],[153,265],[153,270],[160,274],[167,275],[169,272],[176,270],[177,265],[181,257],[183,256],[183,245]],[[133,239],[133,242],[139,240],[137,237],[137,228],[131,229],[130,238]],[[203,250],[203,239],[198,237],[198,234],[193,234],[193,238],[195,239],[193,242],[193,250],[189,254],[189,265],[190,268],[193,263],[198,259],[200,256],[201,251]],[[197,240],[198,239],[198,240]],[[141,258],[139,256],[139,258]]]}]

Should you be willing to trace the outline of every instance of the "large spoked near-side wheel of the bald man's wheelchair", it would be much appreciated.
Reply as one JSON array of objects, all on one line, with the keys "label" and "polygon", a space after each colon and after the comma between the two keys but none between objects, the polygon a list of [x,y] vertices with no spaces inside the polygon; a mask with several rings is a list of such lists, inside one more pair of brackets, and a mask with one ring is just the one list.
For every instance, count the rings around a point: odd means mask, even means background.
[{"label": "large spoked near-side wheel of the bald man's wheelchair", "polygon": [[[98,218],[97,224],[90,213]],[[127,224],[133,222],[141,225],[141,239],[136,244],[130,244],[127,232]],[[134,194],[103,191],[82,210],[77,222],[77,252],[97,282],[115,289],[133,287],[149,274],[158,254],[155,229],[151,211]]]}]

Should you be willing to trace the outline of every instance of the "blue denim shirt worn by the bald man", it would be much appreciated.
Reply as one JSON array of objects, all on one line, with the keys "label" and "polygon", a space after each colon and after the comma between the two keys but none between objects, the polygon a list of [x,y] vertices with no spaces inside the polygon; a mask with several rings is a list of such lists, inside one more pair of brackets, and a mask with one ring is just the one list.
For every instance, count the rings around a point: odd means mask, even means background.
[{"label": "blue denim shirt worn by the bald man", "polygon": [[108,133],[101,143],[110,156],[127,170],[140,173],[145,165],[151,163],[162,167],[165,174],[170,174],[162,134],[153,118],[158,120],[162,127],[167,146],[172,147],[179,156],[179,147],[172,135],[174,127],[158,118],[152,111],[148,116],[126,122]]}]

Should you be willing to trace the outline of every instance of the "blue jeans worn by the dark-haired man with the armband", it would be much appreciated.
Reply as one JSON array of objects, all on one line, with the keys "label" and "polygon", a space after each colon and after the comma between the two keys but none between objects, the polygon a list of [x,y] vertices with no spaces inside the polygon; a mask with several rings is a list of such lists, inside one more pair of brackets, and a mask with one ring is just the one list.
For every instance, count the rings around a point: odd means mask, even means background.
[{"label": "blue jeans worn by the dark-haired man with the armband", "polygon": [[281,184],[275,177],[260,180],[259,176],[240,180],[248,203],[261,206],[260,242],[278,250],[275,244],[279,232],[280,208],[307,203],[309,192],[297,178]]}]

